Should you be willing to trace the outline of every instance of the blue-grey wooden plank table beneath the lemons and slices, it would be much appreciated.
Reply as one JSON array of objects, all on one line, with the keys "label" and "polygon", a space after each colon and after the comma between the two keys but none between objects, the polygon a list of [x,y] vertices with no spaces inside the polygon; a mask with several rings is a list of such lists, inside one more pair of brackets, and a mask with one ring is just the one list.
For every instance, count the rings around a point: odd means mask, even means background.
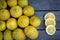
[{"label": "blue-grey wooden plank table beneath the lemons and slices", "polygon": [[[41,19],[41,25],[37,28],[39,36],[36,40],[60,40],[60,0],[29,0],[29,5],[35,8],[35,15]],[[47,35],[45,31],[43,16],[47,12],[53,12],[56,15],[57,31],[52,36]]]}]

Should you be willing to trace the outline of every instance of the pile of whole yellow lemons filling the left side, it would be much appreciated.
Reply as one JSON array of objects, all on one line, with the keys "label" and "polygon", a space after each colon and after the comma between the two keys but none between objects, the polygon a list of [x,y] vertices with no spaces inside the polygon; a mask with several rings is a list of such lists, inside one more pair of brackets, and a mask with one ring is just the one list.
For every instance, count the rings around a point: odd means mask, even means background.
[{"label": "pile of whole yellow lemons filling the left side", "polygon": [[41,20],[33,15],[28,0],[0,0],[0,40],[25,40],[26,36],[36,39]]}]

